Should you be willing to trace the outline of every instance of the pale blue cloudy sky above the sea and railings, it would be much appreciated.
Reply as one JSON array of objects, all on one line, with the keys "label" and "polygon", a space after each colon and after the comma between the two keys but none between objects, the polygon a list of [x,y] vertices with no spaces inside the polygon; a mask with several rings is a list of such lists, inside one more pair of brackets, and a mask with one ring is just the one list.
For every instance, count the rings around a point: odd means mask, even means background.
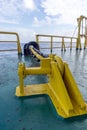
[{"label": "pale blue cloudy sky above the sea and railings", "polygon": [[73,36],[87,0],[0,0],[0,31],[17,32],[21,42],[36,34]]}]

